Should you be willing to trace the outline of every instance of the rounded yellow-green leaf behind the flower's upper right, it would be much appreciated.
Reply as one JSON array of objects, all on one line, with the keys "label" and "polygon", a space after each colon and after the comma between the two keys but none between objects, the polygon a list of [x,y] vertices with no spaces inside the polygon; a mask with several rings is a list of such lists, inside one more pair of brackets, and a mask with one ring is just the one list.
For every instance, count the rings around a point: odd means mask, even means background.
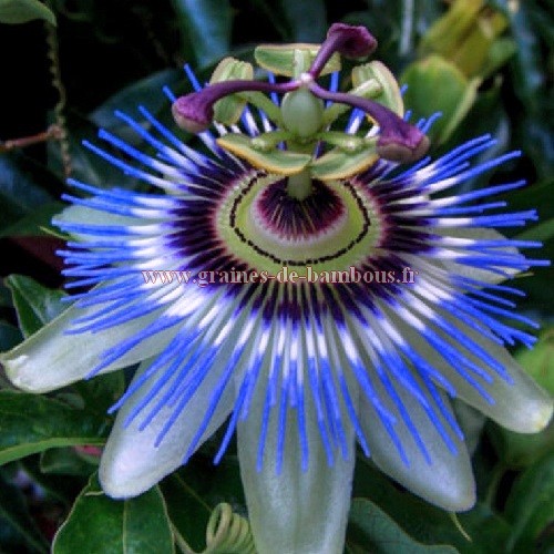
[{"label": "rounded yellow-green leaf behind the flower's upper right", "polygon": [[429,133],[438,143],[445,142],[461,123],[475,101],[480,84],[476,79],[469,81],[453,63],[440,55],[410,64],[401,82],[408,85],[404,104],[418,117],[442,112],[442,117]]}]

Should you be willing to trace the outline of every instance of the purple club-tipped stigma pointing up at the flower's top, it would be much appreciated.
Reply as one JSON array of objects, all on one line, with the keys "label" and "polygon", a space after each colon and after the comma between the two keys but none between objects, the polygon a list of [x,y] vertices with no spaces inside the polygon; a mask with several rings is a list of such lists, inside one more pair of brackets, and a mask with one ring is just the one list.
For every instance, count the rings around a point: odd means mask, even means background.
[{"label": "purple club-tipped stigma pointing up at the flower's top", "polygon": [[377,40],[365,27],[335,23],[330,27],[327,39],[321,44],[309,73],[317,78],[335,52],[339,52],[347,58],[365,58],[373,52],[376,48]]}]

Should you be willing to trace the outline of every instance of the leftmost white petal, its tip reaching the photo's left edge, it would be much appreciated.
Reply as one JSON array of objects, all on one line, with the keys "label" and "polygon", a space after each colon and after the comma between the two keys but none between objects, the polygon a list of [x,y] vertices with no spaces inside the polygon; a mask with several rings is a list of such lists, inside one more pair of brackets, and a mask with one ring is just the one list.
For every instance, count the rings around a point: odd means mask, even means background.
[{"label": "leftmost white petal, its tip reaching the photo's left edge", "polygon": [[[70,307],[21,345],[0,357],[10,381],[30,392],[48,392],[83,379],[101,361],[101,355],[132,337],[160,317],[158,311],[99,332],[68,335],[75,318],[94,314],[92,308]],[[114,361],[102,372],[131,366],[160,352],[176,331],[154,335]]]}]

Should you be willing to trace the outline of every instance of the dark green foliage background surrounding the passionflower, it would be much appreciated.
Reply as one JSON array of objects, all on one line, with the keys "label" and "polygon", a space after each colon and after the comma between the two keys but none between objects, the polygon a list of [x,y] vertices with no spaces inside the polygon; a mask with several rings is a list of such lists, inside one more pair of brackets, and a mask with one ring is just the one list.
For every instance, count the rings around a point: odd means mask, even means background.
[{"label": "dark green foliage background surrounding the passionflower", "polygon": [[[188,90],[179,69],[185,61],[207,79],[223,55],[252,59],[259,42],[320,42],[335,21],[370,29],[380,43],[377,58],[410,84],[407,103],[417,114],[444,112],[433,132],[435,152],[484,132],[497,138],[497,152],[523,152],[494,179],[529,181],[506,199],[514,209],[538,208],[540,223],[520,236],[543,240],[542,257],[553,258],[554,7],[550,0],[456,2],[462,4],[462,14],[476,7],[466,28],[463,18],[444,17],[449,4],[439,0],[0,0],[0,246],[7,277],[0,286],[0,350],[63,309],[53,255],[60,242],[50,218],[63,207],[58,198],[65,174],[99,186],[138,187],[81,148],[83,138],[93,141],[99,126],[132,138],[114,109],[133,112],[145,104],[168,120],[161,88]],[[62,126],[61,142],[25,148],[6,142],[51,123]],[[553,277],[552,269],[541,269],[520,278],[527,293],[521,309],[542,322],[543,334],[533,351],[515,352],[551,392]],[[246,515],[233,449],[219,466],[212,464],[217,437],[140,499],[117,503],[102,495],[94,449],[75,447],[103,444],[111,425],[105,408],[123,390],[123,375],[48,397],[1,382],[0,552],[203,551],[217,504]],[[474,448],[478,505],[454,521],[360,456],[347,552],[554,552],[552,425],[523,437],[464,407],[459,416]],[[248,552],[244,544],[214,548],[206,552]]]}]

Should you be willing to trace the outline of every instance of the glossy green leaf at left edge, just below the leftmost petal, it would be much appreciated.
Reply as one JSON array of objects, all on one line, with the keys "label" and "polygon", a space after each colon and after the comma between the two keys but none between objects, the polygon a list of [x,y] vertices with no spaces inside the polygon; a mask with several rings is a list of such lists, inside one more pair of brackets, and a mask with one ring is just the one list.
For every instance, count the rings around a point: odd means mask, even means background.
[{"label": "glossy green leaf at left edge, just below the leftmost petal", "polygon": [[57,447],[104,443],[107,418],[48,397],[0,391],[0,464]]}]

